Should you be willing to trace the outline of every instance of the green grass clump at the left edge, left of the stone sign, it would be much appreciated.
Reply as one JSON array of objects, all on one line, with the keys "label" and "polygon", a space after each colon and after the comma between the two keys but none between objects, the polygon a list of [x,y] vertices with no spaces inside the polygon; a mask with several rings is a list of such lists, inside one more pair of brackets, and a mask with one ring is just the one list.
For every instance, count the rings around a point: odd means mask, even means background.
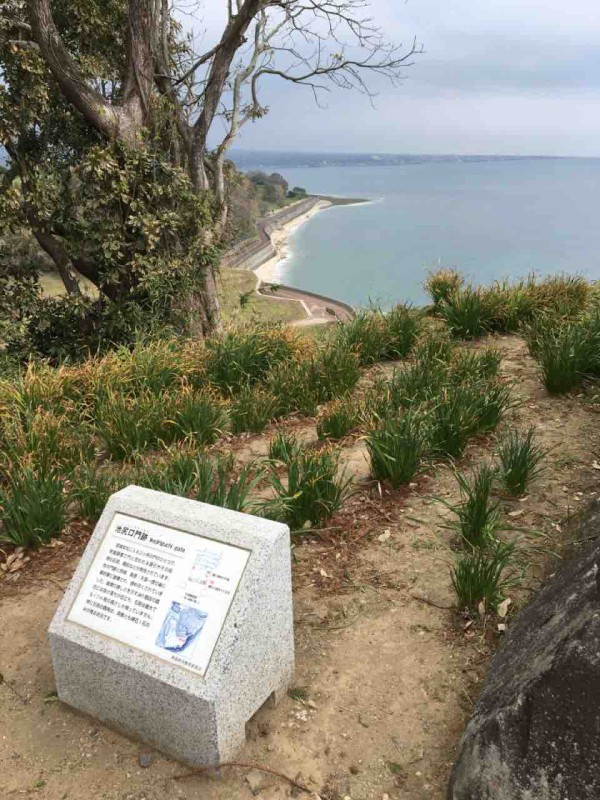
[{"label": "green grass clump at the left edge, left of the stone sign", "polygon": [[62,533],[66,525],[63,484],[52,472],[31,467],[14,470],[3,493],[0,539],[19,547],[37,547]]}]

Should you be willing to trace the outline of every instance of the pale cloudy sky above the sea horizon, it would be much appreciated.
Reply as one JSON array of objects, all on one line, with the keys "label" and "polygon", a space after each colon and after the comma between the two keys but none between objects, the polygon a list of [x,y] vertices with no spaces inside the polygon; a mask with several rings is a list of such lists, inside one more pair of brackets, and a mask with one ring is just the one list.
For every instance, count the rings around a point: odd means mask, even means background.
[{"label": "pale cloudy sky above the sea horizon", "polygon": [[[597,0],[371,0],[397,43],[425,52],[399,87],[378,79],[374,107],[341,89],[315,104],[270,78],[269,113],[237,146],[320,152],[600,156]],[[194,30],[220,29],[225,0],[205,0]],[[199,19],[201,18],[201,20]],[[218,126],[215,133],[218,132]]]}]

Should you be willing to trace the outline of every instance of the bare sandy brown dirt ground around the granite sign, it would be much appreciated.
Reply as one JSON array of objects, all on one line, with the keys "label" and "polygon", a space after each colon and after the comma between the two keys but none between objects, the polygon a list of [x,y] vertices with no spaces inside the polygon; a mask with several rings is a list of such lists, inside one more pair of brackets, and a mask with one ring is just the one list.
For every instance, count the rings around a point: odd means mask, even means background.
[{"label": "bare sandy brown dirt ground around the granite sign", "polygon": [[[522,401],[507,424],[535,424],[552,448],[529,496],[503,500],[511,525],[537,532],[508,535],[543,550],[532,555],[518,605],[556,563],[550,551],[564,544],[569,519],[598,493],[600,432],[584,398],[546,394],[522,340],[494,344]],[[260,454],[265,441],[243,447]],[[460,466],[492,451],[491,440],[477,442]],[[330,531],[294,550],[296,699],[261,709],[239,759],[296,778],[311,790],[307,797],[442,800],[501,634],[495,623],[487,633],[480,622],[468,625],[451,608],[453,535],[436,499],[457,498],[449,469],[380,497],[366,481],[359,439],[344,458],[357,493]],[[0,582],[0,797],[242,800],[252,786],[263,800],[280,800],[297,792],[251,766],[191,775],[56,700],[46,630],[85,538],[73,533]],[[149,766],[140,766],[140,755],[150,755]]]}]

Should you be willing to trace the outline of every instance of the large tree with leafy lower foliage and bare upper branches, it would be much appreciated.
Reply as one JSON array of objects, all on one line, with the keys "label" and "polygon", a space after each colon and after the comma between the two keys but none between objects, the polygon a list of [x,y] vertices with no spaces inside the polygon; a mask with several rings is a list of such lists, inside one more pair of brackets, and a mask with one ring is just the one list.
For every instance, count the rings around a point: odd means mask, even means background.
[{"label": "large tree with leafy lower foliage and bare upper branches", "polygon": [[[82,331],[117,319],[121,339],[128,320],[218,326],[228,148],[267,114],[265,80],[318,97],[401,77],[418,49],[387,43],[368,5],[222,0],[222,30],[198,49],[197,24],[184,30],[169,0],[3,0],[0,224],[27,228],[54,263],[70,296],[61,319]],[[265,186],[273,201],[288,191]]]}]

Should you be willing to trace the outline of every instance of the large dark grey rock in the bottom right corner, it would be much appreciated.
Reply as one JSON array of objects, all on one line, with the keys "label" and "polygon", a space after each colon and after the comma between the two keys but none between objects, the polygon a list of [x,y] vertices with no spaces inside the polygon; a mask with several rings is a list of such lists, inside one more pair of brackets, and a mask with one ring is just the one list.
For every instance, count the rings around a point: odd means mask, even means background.
[{"label": "large dark grey rock in the bottom right corner", "polygon": [[[600,508],[582,529],[600,536]],[[512,624],[455,764],[449,800],[600,798],[600,544]]]}]

